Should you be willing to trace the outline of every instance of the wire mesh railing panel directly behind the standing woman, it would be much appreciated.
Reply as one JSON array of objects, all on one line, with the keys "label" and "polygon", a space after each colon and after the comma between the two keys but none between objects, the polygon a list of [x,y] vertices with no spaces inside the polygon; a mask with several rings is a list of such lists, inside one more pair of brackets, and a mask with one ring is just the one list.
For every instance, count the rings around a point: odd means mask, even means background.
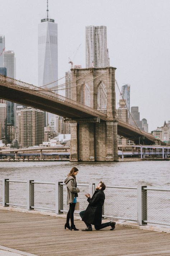
[{"label": "wire mesh railing panel directly behind the standing woman", "polygon": [[[77,185],[79,187],[79,185]],[[80,192],[78,193],[77,201],[80,203],[80,209],[75,211],[76,214],[85,210],[88,206],[87,198],[85,194],[89,193],[89,186],[80,186]],[[66,186],[63,186],[63,211],[67,212],[69,210],[69,205],[67,205],[67,190]],[[91,195],[92,196],[92,195]]]}]

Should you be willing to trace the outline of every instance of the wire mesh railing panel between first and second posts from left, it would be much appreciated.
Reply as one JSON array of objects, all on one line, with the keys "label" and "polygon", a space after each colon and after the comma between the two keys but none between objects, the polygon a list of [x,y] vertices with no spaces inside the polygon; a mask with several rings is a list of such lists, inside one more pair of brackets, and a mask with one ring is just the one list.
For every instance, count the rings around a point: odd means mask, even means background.
[{"label": "wire mesh railing panel between first and second posts from left", "polygon": [[9,186],[9,204],[27,206],[27,183],[7,182]]}]

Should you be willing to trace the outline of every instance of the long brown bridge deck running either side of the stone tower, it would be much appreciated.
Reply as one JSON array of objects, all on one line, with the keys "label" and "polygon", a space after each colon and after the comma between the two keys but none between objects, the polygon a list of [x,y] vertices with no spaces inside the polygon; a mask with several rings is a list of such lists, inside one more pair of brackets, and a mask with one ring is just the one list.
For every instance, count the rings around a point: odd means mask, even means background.
[{"label": "long brown bridge deck running either side of the stone tower", "polygon": [[[103,112],[85,106],[80,102],[2,75],[0,75],[0,92],[1,98],[5,100],[41,109],[65,118],[71,118],[78,122],[82,121],[82,119],[87,120],[86,122],[91,119],[96,122],[97,118],[100,118],[101,122],[110,121]],[[136,144],[138,144],[139,138],[141,139],[141,144],[159,143],[159,140],[155,139],[151,134],[141,131],[120,119],[118,120],[118,135],[132,140]],[[166,145],[164,142],[161,142],[161,144]]]}]

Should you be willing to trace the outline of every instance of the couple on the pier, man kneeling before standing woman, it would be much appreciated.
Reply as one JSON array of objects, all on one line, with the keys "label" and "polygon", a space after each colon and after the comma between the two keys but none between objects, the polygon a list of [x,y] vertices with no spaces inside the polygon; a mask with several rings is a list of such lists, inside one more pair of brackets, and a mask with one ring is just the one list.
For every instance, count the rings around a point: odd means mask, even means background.
[{"label": "couple on the pier, man kneeling before standing woman", "polygon": [[[76,183],[76,175],[79,170],[76,167],[73,167],[70,173],[67,175],[64,183],[67,186],[67,204],[70,205],[69,211],[67,213],[67,220],[65,224],[65,229],[68,228],[70,230],[79,230],[74,225],[74,210],[76,205],[76,198],[78,197],[78,193],[80,189],[77,187]],[[102,219],[102,206],[104,204],[105,194],[103,190],[105,190],[105,184],[100,181],[96,186],[96,190],[93,194],[93,197],[90,197],[90,194],[86,194],[85,196],[88,198],[89,205],[85,211],[80,212],[80,217],[82,221],[86,224],[86,229],[82,229],[82,231],[92,231],[91,224],[94,225],[96,230],[103,229],[105,227],[111,226],[110,230],[115,229],[115,222],[110,221],[107,223],[101,224]],[[69,224],[69,220],[71,220],[71,226]]]}]

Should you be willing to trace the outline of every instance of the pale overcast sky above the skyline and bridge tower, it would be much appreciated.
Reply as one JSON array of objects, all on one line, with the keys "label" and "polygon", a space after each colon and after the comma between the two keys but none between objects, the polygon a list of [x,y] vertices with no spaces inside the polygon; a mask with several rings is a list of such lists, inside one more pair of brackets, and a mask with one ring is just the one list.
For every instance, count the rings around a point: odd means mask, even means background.
[{"label": "pale overcast sky above the skyline and bridge tower", "polygon": [[[110,66],[121,88],[131,85],[130,106],[139,106],[149,131],[170,120],[170,0],[49,0],[58,23],[58,74],[85,67],[85,26],[107,26]],[[46,0],[0,0],[0,34],[16,57],[16,79],[38,83],[38,23]],[[116,90],[117,102],[119,93]]]}]

